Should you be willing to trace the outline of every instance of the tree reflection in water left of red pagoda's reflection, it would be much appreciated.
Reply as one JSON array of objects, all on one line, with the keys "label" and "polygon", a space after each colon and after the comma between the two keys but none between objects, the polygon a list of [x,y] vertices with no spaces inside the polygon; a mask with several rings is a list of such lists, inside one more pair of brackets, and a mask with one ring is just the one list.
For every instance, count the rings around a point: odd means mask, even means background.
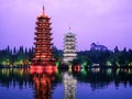
[{"label": "tree reflection in water left of red pagoda's reflection", "polygon": [[6,87],[16,87],[22,88],[23,86],[32,86],[31,76],[29,69],[0,69],[0,84]]}]

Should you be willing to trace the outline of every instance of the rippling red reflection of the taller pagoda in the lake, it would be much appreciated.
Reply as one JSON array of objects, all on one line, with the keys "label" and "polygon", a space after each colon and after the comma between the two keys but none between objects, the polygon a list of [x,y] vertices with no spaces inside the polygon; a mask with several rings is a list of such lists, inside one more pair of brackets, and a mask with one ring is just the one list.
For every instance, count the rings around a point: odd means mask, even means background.
[{"label": "rippling red reflection of the taller pagoda in the lake", "polygon": [[31,73],[35,99],[52,99],[52,81],[56,73]]}]

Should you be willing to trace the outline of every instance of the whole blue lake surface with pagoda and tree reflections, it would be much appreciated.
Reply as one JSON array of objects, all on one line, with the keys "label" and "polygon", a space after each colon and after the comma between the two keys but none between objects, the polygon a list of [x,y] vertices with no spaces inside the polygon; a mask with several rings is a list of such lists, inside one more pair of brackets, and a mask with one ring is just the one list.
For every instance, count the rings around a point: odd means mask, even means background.
[{"label": "whole blue lake surface with pagoda and tree reflections", "polygon": [[132,69],[0,69],[0,99],[132,99]]}]

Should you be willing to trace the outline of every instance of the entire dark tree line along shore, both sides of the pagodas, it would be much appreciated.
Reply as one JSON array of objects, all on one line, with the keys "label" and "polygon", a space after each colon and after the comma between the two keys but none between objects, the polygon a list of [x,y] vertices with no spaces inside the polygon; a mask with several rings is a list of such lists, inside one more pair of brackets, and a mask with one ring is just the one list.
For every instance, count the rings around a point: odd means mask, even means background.
[{"label": "entire dark tree line along shore, both sides of the pagodas", "polygon": [[[20,46],[18,50],[10,48],[8,46],[4,50],[0,50],[0,66],[20,66],[30,65],[33,57],[33,47],[24,48]],[[125,47],[120,51],[116,46],[114,51],[99,51],[89,50],[77,52],[78,56],[72,62],[73,65],[80,66],[132,66],[132,50]],[[63,61],[63,51],[53,46],[53,55],[57,65]]]}]

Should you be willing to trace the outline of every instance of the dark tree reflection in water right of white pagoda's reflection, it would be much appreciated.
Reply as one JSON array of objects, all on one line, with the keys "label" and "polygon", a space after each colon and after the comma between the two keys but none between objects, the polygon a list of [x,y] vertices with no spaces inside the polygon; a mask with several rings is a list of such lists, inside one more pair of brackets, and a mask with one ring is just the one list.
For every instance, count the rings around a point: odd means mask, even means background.
[{"label": "dark tree reflection in water right of white pagoda's reflection", "polygon": [[74,72],[73,75],[77,80],[90,84],[92,89],[103,88],[114,82],[116,87],[120,84],[132,86],[132,69],[88,69],[80,73]]}]

